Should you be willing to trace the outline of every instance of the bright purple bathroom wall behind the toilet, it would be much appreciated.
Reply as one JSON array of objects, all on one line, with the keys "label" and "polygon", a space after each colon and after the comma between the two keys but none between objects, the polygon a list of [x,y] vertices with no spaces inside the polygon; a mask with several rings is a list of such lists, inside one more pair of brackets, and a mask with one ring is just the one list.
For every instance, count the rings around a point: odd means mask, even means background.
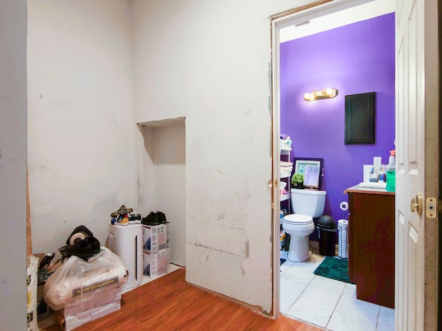
[{"label": "bright purple bathroom wall behind the toilet", "polygon": [[[363,165],[373,157],[386,164],[394,149],[394,13],[287,41],[280,54],[281,133],[293,141],[291,158],[324,159],[324,214],[337,223],[348,217],[343,191],[363,181]],[[336,98],[303,99],[329,87]],[[376,92],[375,143],[345,145],[345,95],[365,92]]]}]

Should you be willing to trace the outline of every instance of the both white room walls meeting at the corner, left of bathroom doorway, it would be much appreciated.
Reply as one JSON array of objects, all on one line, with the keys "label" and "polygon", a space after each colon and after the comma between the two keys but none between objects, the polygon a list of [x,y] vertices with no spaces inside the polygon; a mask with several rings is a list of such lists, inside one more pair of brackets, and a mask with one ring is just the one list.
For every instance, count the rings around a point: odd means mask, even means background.
[{"label": "both white room walls meeting at the corner, left of bathroom doorway", "polygon": [[186,279],[269,312],[269,15],[308,2],[29,0],[34,252],[104,241],[137,200],[135,123],[186,117]]}]

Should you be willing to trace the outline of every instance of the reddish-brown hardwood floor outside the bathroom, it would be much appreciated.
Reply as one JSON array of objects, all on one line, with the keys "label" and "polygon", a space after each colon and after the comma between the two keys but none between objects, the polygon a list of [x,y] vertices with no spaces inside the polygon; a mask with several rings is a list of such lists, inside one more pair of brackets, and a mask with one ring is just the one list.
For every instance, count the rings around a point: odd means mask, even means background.
[{"label": "reddish-brown hardwood floor outside the bathroom", "polygon": [[[166,274],[122,297],[122,308],[75,331],[323,330],[280,316],[256,314],[184,281],[185,269]],[[57,330],[57,329],[46,329]]]}]

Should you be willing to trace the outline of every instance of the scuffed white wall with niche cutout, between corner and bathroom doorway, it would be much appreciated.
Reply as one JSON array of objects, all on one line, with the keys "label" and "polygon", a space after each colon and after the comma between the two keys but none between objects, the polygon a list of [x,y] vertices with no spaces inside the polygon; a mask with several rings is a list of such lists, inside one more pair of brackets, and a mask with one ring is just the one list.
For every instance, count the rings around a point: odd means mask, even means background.
[{"label": "scuffed white wall with niche cutout, between corner and bathroom doorway", "polygon": [[270,21],[309,1],[133,1],[134,120],[186,117],[186,281],[271,309]]}]

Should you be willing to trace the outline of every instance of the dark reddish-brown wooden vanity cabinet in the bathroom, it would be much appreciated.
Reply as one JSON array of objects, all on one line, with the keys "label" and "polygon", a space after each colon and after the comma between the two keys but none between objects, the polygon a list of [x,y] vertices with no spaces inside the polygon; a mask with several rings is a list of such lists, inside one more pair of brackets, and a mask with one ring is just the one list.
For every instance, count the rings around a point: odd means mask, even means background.
[{"label": "dark reddish-brown wooden vanity cabinet in the bathroom", "polygon": [[349,201],[348,272],[356,298],[394,308],[394,192],[344,191]]}]

